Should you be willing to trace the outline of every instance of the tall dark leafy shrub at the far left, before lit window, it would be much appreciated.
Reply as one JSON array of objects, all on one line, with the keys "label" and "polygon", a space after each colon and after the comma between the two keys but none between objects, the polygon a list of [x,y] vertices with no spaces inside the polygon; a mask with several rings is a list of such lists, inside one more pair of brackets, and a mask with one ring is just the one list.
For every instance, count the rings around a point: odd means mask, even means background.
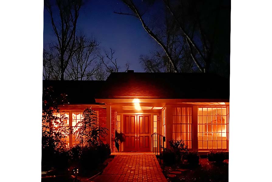
[{"label": "tall dark leafy shrub at the far left, before lit window", "polygon": [[42,114],[42,167],[45,170],[52,166],[61,166],[57,162],[62,154],[66,153],[67,148],[63,140],[63,133],[69,133],[64,126],[64,114],[60,117],[58,105],[67,103],[66,95],[56,95],[53,87],[43,88],[43,114]]}]

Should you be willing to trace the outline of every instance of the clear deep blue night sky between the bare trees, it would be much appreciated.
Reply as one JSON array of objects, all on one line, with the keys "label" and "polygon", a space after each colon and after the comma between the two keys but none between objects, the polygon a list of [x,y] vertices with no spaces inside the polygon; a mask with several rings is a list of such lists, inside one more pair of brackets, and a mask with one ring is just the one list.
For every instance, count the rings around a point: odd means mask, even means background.
[{"label": "clear deep blue night sky between the bare trees", "polygon": [[[114,57],[118,65],[130,63],[130,69],[144,72],[139,63],[140,55],[149,54],[157,47],[156,42],[146,33],[140,21],[133,16],[113,13],[128,12],[128,8],[119,0],[88,1],[80,10],[77,29],[88,37],[95,37],[100,42],[102,51],[115,50]],[[43,45],[56,41],[49,13],[44,9]]]}]

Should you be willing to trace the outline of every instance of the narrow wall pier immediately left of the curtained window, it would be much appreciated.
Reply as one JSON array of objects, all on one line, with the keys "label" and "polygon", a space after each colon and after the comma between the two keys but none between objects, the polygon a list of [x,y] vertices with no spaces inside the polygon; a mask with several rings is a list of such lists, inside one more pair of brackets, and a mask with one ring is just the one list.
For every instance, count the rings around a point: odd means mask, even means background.
[{"label": "narrow wall pier immediately left of the curtained window", "polygon": [[169,140],[172,139],[172,124],[173,124],[173,107],[171,105],[166,106],[166,121],[165,121],[165,127],[166,127],[166,147],[170,148]]}]

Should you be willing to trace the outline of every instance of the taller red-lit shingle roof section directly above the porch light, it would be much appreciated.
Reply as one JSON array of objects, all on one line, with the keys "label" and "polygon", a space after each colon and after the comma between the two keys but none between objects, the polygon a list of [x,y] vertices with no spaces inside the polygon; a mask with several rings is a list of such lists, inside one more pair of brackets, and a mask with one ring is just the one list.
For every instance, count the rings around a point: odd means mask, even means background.
[{"label": "taller red-lit shingle roof section directly above the porch light", "polygon": [[208,73],[111,73],[95,98],[229,99],[229,79]]}]

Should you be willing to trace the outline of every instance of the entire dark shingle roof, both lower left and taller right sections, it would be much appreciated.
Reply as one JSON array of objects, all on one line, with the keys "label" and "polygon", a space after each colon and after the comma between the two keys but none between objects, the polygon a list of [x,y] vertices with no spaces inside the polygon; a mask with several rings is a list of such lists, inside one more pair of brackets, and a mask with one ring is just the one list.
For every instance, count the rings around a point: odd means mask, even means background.
[{"label": "entire dark shingle roof, both lower left and taller right sections", "polygon": [[111,73],[106,81],[43,80],[70,104],[94,104],[95,99],[225,99],[229,79],[208,73]]}]

